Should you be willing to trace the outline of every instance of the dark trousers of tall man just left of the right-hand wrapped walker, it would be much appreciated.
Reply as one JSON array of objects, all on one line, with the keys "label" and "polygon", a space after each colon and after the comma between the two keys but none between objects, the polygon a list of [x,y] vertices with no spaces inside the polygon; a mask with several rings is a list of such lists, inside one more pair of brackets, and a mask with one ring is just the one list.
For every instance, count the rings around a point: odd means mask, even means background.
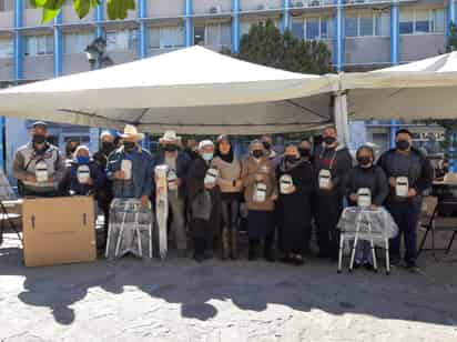
[{"label": "dark trousers of tall man just left of the right-hand wrapped walker", "polygon": [[343,198],[338,194],[316,194],[313,208],[319,253],[336,256],[339,241],[336,225],[343,211]]}]

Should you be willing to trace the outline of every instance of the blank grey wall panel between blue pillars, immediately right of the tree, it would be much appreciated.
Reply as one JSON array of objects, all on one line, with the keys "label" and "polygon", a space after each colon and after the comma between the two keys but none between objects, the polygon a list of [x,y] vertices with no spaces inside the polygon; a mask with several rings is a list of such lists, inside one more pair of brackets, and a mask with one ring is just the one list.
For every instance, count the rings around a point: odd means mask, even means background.
[{"label": "blank grey wall panel between blue pillars, immediately right of the tree", "polygon": [[390,60],[388,37],[355,37],[345,40],[346,64],[387,63]]}]

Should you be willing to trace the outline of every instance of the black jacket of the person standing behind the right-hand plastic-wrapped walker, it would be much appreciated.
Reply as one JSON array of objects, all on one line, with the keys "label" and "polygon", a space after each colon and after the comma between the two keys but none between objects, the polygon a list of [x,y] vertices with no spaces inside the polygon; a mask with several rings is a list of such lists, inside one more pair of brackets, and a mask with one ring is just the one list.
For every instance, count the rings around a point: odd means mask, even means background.
[{"label": "black jacket of the person standing behind the right-hand plastic-wrapped walker", "polygon": [[368,188],[372,192],[372,203],[382,205],[388,195],[388,183],[386,174],[379,167],[368,169],[355,167],[347,174],[346,195],[348,202],[354,205],[356,203],[349,200],[349,195],[357,193],[360,188]]}]

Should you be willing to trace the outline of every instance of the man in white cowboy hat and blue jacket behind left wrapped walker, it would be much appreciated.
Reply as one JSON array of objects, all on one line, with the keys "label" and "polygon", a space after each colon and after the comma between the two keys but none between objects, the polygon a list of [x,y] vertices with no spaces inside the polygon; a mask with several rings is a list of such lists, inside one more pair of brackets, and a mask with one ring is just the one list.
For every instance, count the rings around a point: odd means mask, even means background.
[{"label": "man in white cowboy hat and blue jacket behind left wrapped walker", "polygon": [[113,182],[113,195],[119,199],[140,199],[149,205],[152,191],[152,155],[140,145],[144,134],[134,125],[125,125],[123,144],[108,159],[106,178]]}]

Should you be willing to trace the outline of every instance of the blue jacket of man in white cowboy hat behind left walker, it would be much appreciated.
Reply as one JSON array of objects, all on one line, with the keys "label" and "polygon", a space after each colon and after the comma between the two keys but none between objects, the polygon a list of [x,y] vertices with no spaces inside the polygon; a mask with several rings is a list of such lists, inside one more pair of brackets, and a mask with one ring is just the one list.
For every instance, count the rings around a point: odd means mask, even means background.
[{"label": "blue jacket of man in white cowboy hat behind left walker", "polygon": [[[132,161],[132,179],[116,180],[114,172],[121,170],[122,160]],[[124,151],[121,147],[112,152],[108,159],[106,177],[113,181],[114,198],[132,199],[142,195],[151,195],[153,178],[153,160],[149,151],[136,147],[131,153]]]}]

